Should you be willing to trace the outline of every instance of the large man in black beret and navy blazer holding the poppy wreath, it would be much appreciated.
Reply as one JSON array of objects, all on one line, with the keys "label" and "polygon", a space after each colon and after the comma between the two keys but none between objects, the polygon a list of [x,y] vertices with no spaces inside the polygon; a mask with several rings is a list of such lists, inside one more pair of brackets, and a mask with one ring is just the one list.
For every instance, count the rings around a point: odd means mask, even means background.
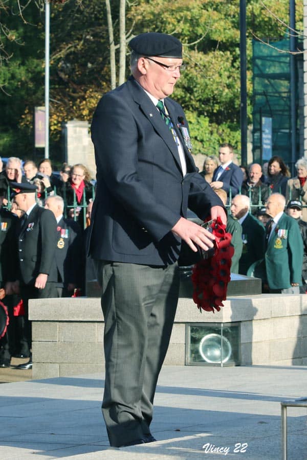
[{"label": "large man in black beret and navy blazer holding the poppy wreath", "polygon": [[89,253],[102,286],[102,412],[115,447],[155,441],[153,397],[178,302],[181,240],[196,251],[214,239],[186,219],[187,207],[226,223],[223,203],[195,167],[184,111],[169,98],[185,67],[181,42],[145,33],[129,44],[132,76],[103,96],[92,122]]}]

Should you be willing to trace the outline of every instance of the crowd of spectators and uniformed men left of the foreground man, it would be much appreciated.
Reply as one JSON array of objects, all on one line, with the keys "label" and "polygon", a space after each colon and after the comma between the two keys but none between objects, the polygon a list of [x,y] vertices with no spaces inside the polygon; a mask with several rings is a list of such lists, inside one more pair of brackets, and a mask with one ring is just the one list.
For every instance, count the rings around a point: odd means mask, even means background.
[{"label": "crowd of spectators and uniformed men left of the foreground man", "polygon": [[[0,367],[8,367],[12,356],[29,358],[20,369],[32,367],[29,298],[85,295],[86,279],[93,278],[85,242],[94,197],[95,187],[82,164],[63,164],[59,174],[53,172],[49,159],[36,166],[32,160],[23,164],[10,157],[3,166],[0,299],[8,308],[9,326],[0,338]],[[39,261],[47,258],[47,252],[51,265],[41,271]],[[27,279],[27,268],[23,271],[29,264],[32,281]],[[39,285],[41,277],[45,282]]]}]

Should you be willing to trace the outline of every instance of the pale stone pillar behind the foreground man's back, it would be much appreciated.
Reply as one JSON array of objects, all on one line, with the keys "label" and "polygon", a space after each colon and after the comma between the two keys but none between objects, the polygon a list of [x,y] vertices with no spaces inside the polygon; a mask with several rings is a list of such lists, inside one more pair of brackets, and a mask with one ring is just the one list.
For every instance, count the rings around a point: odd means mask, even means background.
[{"label": "pale stone pillar behind the foreground man's back", "polygon": [[96,178],[94,145],[90,135],[90,124],[87,121],[72,120],[62,128],[65,143],[65,162],[73,166],[82,163],[89,170],[91,177]]}]

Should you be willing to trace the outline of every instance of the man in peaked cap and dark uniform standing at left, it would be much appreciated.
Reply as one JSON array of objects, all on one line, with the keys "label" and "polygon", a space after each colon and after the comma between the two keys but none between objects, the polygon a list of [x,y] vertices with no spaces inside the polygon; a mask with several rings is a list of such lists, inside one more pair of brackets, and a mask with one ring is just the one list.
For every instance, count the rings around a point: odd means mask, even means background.
[{"label": "man in peaked cap and dark uniform standing at left", "polygon": [[[24,211],[18,235],[18,281],[12,291],[19,290],[25,307],[25,334],[21,338],[23,349],[31,350],[32,331],[28,317],[30,298],[57,297],[57,269],[55,264],[56,219],[53,213],[40,208],[36,203],[36,186],[31,183],[12,182],[14,200],[18,209]],[[29,362],[20,364],[19,369],[31,369]]]}]

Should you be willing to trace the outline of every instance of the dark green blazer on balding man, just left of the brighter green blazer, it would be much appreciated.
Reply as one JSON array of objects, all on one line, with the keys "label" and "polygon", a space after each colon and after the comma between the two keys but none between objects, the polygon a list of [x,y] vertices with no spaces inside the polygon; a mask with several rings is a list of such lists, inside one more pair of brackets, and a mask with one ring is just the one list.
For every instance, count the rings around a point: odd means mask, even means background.
[{"label": "dark green blazer on balding man, just left of the brighter green blazer", "polygon": [[248,268],[265,255],[265,227],[251,214],[242,222],[243,250],[239,261],[239,273],[247,274]]}]

